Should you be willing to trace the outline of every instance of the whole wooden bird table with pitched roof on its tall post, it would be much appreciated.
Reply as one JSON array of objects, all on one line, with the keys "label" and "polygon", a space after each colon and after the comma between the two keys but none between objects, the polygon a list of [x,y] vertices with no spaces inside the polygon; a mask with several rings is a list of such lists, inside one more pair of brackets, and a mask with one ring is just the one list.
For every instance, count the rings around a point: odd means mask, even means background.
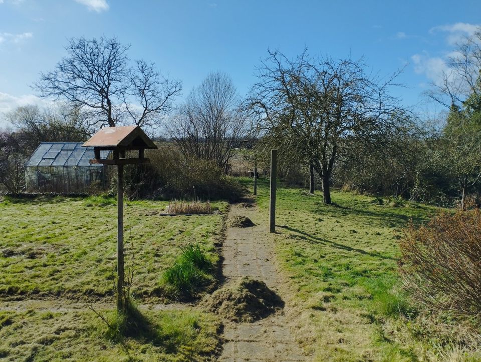
[{"label": "whole wooden bird table with pitched roof on its tall post", "polygon": [[[117,165],[117,311],[124,309],[124,165],[148,163],[145,149],[157,146],[139,126],[103,128],[83,147],[93,147],[95,158],[90,163]],[[103,151],[103,154],[102,154]],[[111,151],[113,157],[108,158]],[[126,158],[126,151],[138,151],[138,158]],[[128,296],[127,296],[128,297]]]}]

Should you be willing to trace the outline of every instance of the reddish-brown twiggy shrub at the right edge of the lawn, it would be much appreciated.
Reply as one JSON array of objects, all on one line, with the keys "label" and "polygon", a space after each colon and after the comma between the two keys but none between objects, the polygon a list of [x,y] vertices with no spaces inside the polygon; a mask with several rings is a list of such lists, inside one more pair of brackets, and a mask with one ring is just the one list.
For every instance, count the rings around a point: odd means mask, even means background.
[{"label": "reddish-brown twiggy shrub at the right edge of the lawn", "polygon": [[441,213],[426,226],[412,222],[400,242],[404,287],[434,309],[481,312],[481,213]]}]

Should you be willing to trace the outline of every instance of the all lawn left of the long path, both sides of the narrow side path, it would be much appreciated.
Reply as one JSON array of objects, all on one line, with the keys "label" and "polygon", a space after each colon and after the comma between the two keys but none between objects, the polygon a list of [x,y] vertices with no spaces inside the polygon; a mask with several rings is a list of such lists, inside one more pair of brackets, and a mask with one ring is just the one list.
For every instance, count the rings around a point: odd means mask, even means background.
[{"label": "all lawn left of the long path, both sides of the narrow side path", "polygon": [[[161,275],[181,247],[197,241],[218,259],[222,216],[158,216],[167,202],[132,201],[124,208],[125,244],[133,241],[132,291],[141,303],[141,333],[122,340],[84,300],[113,300],[116,265],[116,200],[106,197],[4,199],[0,202],[0,302],[56,301],[51,311],[0,311],[3,360],[210,360],[219,348],[220,321],[212,314],[149,309],[162,294]],[[225,211],[225,202],[214,208]],[[131,255],[131,247],[127,247]],[[126,258],[126,265],[130,260]],[[63,310],[62,300],[84,305]],[[15,305],[15,301],[7,304]],[[47,305],[46,304],[46,305]],[[103,307],[105,308],[105,306]],[[103,310],[112,320],[116,313]]]}]

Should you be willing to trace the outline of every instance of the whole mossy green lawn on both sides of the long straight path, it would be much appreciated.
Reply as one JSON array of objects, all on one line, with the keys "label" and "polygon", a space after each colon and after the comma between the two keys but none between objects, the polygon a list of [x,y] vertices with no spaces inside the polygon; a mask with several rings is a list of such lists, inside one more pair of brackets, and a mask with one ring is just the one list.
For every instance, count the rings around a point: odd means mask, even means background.
[{"label": "whole mossy green lawn on both sides of the long straight path", "polygon": [[[252,186],[252,180],[243,179]],[[268,183],[256,200],[268,216]],[[334,190],[333,205],[319,192],[278,188],[278,262],[290,280],[296,338],[315,360],[478,360],[459,342],[464,329],[429,320],[402,291],[398,239],[409,219],[424,223],[434,207],[373,203],[374,197]],[[0,303],[43,300],[113,302],[115,199],[105,197],[4,199],[0,202]],[[227,204],[214,207],[225,211]],[[190,306],[155,310],[172,301],[161,273],[182,246],[196,240],[218,258],[221,215],[160,217],[166,202],[125,207],[126,241],[135,256],[133,292],[148,331],[122,341],[87,308],[0,311],[0,358],[7,360],[204,360],[221,345],[218,317]],[[110,304],[109,304],[110,305]],[[112,316],[112,308],[101,310]],[[451,328],[447,330],[446,327]],[[437,330],[437,329],[442,330]],[[447,336],[446,336],[447,335]],[[451,335],[451,336],[449,336]],[[457,339],[456,339],[457,338]]]}]

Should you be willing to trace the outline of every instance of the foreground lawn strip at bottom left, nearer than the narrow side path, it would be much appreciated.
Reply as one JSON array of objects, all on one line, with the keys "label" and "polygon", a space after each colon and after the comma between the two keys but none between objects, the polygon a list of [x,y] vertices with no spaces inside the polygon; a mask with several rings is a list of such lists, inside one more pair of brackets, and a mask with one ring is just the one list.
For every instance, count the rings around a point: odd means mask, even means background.
[{"label": "foreground lawn strip at bottom left, nearer than the narrow side path", "polygon": [[[103,311],[112,315],[112,311]],[[91,311],[0,312],[0,359],[38,361],[210,360],[219,347],[219,321],[192,311],[143,311],[150,325],[113,341]],[[5,358],[5,359],[4,359]]]}]

